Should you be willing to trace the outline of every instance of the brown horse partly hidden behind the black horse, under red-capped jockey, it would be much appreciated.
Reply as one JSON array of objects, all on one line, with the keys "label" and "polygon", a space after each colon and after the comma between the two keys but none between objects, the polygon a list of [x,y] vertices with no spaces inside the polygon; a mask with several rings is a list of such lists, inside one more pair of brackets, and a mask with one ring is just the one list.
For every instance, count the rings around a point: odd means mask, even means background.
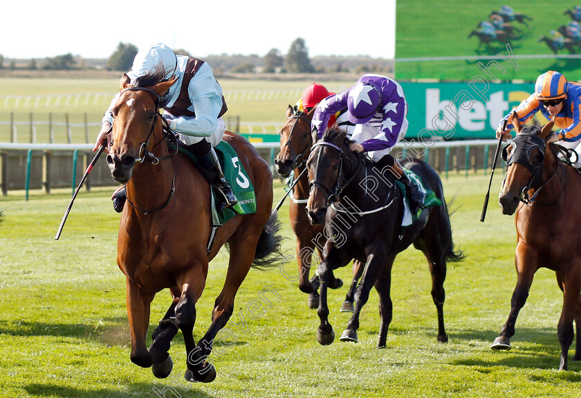
[{"label": "brown horse partly hidden behind the black horse, under red-capped jockey", "polygon": [[[286,123],[280,132],[280,152],[275,159],[277,172],[282,177],[288,177],[291,172],[295,179],[299,179],[291,196],[289,215],[291,228],[297,236],[297,262],[299,264],[299,289],[308,293],[308,307],[319,307],[319,278],[314,275],[309,279],[312,265],[317,265],[321,258],[321,248],[326,242],[324,224],[311,224],[306,214],[306,201],[308,199],[308,178],[304,170],[306,159],[311,153],[313,138],[311,137],[311,120],[315,108],[311,112],[298,112],[288,105],[286,109]],[[313,252],[317,250],[318,258]],[[353,262],[353,280],[347,292],[341,311],[353,312],[353,293],[361,276],[362,267],[358,261]],[[338,289],[343,284],[342,280],[331,277],[329,287]]]}]

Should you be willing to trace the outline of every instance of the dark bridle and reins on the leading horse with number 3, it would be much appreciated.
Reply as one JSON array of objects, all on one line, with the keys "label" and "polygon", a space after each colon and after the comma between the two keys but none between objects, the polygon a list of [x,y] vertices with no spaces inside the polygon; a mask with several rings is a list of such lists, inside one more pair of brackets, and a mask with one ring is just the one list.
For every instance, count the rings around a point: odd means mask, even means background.
[{"label": "dark bridle and reins on the leading horse with number 3", "polygon": [[[144,163],[145,161],[149,161],[152,165],[158,165],[160,161],[172,159],[174,156],[176,156],[176,154],[179,151],[178,138],[176,136],[176,133],[173,132],[172,129],[169,128],[169,123],[167,123],[167,120],[165,120],[164,118],[161,117],[161,114],[159,112],[159,102],[160,102],[159,94],[151,89],[146,89],[145,87],[127,87],[127,89],[122,90],[120,94],[124,93],[125,91],[147,91],[148,93],[153,94],[154,98],[155,98],[154,102],[156,105],[156,113],[154,114],[154,118],[151,121],[151,129],[149,130],[149,134],[147,135],[145,142],[143,142],[139,148],[138,156],[135,159],[136,163]],[[157,145],[159,145],[160,143],[165,141],[166,138],[169,140],[168,147],[175,146],[175,148],[176,148],[176,150],[174,152],[167,154],[165,156],[155,156],[154,154],[149,152],[149,150],[147,150],[147,147],[149,146],[149,140],[151,139],[151,137],[154,137],[154,139],[156,138],[155,128],[156,128],[156,123],[157,123],[158,119],[160,119],[161,123],[162,123],[163,136],[160,138],[160,140],[157,143],[154,144],[153,148],[155,148]],[[177,171],[178,171],[178,167],[176,165],[176,168],[174,168],[174,176],[172,177],[172,189],[169,191],[169,196],[167,197],[167,200],[165,201],[165,203],[163,203],[163,205],[158,206],[157,208],[154,208],[152,210],[144,210],[144,209],[141,209],[141,208],[138,208],[137,206],[135,206],[129,200],[128,195],[127,195],[127,203],[129,203],[129,205],[132,208],[134,208],[135,210],[138,210],[139,212],[142,212],[146,215],[151,213],[151,212],[156,212],[158,210],[165,208],[169,204],[169,201],[172,200],[172,197],[174,197],[174,192],[176,191],[176,173],[177,173]]]}]

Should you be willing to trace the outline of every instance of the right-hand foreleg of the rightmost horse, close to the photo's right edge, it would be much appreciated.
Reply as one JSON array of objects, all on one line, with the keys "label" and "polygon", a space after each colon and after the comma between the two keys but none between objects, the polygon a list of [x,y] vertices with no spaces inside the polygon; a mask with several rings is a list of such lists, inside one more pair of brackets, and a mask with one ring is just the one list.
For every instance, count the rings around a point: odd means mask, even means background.
[{"label": "right-hand foreleg of the rightmost horse, close to the photo's right edge", "polygon": [[581,271],[573,266],[563,278],[563,309],[557,324],[557,336],[561,345],[561,361],[559,370],[567,370],[569,347],[573,343],[573,318],[579,306],[579,291],[581,289]]}]

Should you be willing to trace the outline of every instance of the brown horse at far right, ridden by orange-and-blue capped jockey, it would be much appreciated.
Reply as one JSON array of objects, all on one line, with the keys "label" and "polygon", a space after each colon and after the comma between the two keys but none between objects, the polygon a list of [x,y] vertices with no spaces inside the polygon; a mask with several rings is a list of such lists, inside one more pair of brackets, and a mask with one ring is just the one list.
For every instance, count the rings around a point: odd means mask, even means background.
[{"label": "brown horse at far right, ridden by orange-and-blue capped jockey", "polygon": [[[564,292],[557,336],[561,345],[560,370],[567,368],[567,354],[573,342],[573,319],[577,327],[575,360],[581,359],[581,176],[577,170],[557,159],[557,147],[547,144],[553,122],[542,129],[521,129],[513,117],[517,135],[503,151],[506,177],[499,195],[503,214],[516,211],[517,285],[510,300],[510,314],[492,350],[510,350],[510,337],[524,306],[537,269],[546,267],[557,273]],[[526,205],[526,206],[525,206]]]}]

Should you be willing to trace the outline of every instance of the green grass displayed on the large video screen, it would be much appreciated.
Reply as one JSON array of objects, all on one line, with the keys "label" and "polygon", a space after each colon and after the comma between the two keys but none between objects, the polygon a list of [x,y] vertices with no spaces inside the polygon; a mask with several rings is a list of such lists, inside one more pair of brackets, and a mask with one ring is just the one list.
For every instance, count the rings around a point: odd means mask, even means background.
[{"label": "green grass displayed on the large video screen", "polygon": [[[508,43],[514,55],[552,54],[543,42],[537,42],[542,35],[547,35],[552,29],[557,29],[571,21],[571,17],[563,15],[573,4],[568,1],[464,1],[464,0],[422,0],[398,1],[396,27],[396,59],[408,57],[446,57],[469,55],[508,56],[506,44],[495,42],[491,51],[484,46],[479,48],[476,36],[468,38],[480,21],[488,20],[492,10],[508,4],[515,12],[522,12],[533,18],[527,21],[529,28],[517,21],[511,25],[522,30],[516,33],[519,38]],[[559,51],[568,54],[568,51]],[[436,78],[443,80],[471,80],[474,75],[481,74],[474,61],[430,61],[430,62],[397,62],[396,78],[407,80],[415,78]],[[486,64],[486,62],[484,62]],[[517,60],[519,69],[506,64],[505,74],[497,72],[501,80],[523,79],[534,81],[537,75],[553,70],[564,73],[571,81],[581,80],[579,60],[555,60],[552,58],[537,60]]]}]

